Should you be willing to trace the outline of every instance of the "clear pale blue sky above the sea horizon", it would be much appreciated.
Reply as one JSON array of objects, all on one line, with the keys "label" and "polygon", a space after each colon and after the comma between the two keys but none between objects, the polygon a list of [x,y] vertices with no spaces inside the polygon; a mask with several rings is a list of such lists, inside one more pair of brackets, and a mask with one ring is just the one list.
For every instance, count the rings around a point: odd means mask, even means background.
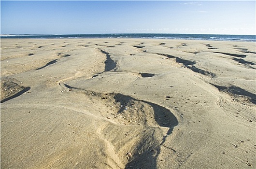
[{"label": "clear pale blue sky above the sea horizon", "polygon": [[0,1],[1,34],[256,34],[251,1]]}]

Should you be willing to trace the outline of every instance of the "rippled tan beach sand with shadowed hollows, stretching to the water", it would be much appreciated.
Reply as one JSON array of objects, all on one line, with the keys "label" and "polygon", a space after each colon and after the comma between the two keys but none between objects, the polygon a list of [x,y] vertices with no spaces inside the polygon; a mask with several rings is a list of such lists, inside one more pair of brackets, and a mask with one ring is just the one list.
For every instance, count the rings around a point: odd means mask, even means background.
[{"label": "rippled tan beach sand with shadowed hollows, stretching to the water", "polygon": [[256,44],[1,39],[1,168],[256,167]]}]

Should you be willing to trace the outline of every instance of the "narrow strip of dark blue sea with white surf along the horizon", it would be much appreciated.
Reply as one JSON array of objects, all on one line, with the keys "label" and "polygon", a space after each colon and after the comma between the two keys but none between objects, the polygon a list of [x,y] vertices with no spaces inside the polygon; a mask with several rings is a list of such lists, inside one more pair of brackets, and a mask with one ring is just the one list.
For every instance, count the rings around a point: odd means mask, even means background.
[{"label": "narrow strip of dark blue sea with white surf along the horizon", "polygon": [[256,42],[256,35],[217,35],[217,34],[169,34],[169,33],[111,33],[111,34],[68,34],[68,35],[7,35],[1,34],[1,39],[85,39],[85,38],[137,38],[137,39],[180,39],[180,40],[210,40],[210,41],[241,41]]}]

